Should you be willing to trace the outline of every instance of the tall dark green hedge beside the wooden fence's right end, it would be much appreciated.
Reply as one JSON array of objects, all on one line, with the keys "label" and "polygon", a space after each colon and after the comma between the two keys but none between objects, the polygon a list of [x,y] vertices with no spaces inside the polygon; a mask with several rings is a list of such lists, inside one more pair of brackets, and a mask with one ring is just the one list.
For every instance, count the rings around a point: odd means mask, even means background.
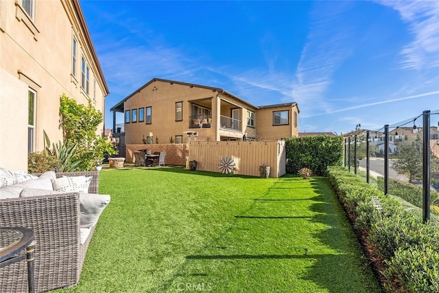
[{"label": "tall dark green hedge beside the wooden fence's right end", "polygon": [[341,136],[294,137],[285,141],[289,174],[309,168],[314,174],[324,176],[328,166],[342,165],[344,149]]}]

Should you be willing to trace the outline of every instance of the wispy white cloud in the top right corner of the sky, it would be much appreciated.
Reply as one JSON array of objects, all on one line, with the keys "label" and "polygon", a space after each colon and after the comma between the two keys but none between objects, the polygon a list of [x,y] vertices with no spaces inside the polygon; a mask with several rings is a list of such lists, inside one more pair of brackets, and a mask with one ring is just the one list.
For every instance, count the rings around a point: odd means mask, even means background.
[{"label": "wispy white cloud in the top right corner of the sky", "polygon": [[405,69],[439,67],[439,1],[377,1],[397,10],[414,40],[401,49]]}]

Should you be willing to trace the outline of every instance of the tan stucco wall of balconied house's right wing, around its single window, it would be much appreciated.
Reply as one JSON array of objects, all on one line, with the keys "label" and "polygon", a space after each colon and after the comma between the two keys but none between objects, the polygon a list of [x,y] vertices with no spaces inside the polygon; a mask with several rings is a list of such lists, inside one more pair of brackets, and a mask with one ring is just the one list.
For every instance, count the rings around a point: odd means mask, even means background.
[{"label": "tan stucco wall of balconied house's right wing, around its single window", "polygon": [[[273,125],[273,112],[288,110],[289,124]],[[294,113],[297,115],[294,124]],[[273,108],[261,108],[257,110],[255,117],[257,137],[262,140],[276,140],[287,137],[298,137],[298,108],[293,106],[280,106]]]}]

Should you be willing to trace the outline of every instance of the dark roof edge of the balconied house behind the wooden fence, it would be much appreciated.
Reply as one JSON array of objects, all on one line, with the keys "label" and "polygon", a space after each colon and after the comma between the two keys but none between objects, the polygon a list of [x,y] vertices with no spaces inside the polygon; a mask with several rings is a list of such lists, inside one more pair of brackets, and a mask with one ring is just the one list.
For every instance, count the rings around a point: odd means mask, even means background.
[{"label": "dark roof edge of the balconied house behind the wooden fence", "polygon": [[193,83],[189,83],[189,82],[179,82],[179,81],[176,81],[176,80],[165,80],[165,79],[162,79],[162,78],[153,78],[149,82],[143,84],[143,86],[139,87],[139,89],[135,90],[130,95],[128,95],[128,97],[126,97],[125,99],[122,99],[121,102],[115,104],[115,106],[112,106],[110,108],[110,110],[112,112],[114,112],[114,111],[116,111],[116,112],[123,112],[123,103],[126,102],[127,99],[129,99],[130,97],[132,97],[136,93],[139,93],[146,86],[152,84],[153,82],[169,82],[169,84],[181,84],[181,85],[186,85],[186,86],[191,86],[191,87],[195,86],[195,87],[198,87],[198,88],[201,88],[201,89],[210,89],[211,91],[217,91],[218,93],[222,93],[224,95],[228,95],[229,97],[233,97],[233,99],[236,99],[239,102],[241,102],[243,104],[246,104],[247,106],[250,106],[250,107],[255,108],[255,109],[260,109],[260,108],[276,108],[276,107],[280,107],[280,106],[293,106],[294,104],[297,106],[296,102],[285,103],[285,104],[276,104],[276,105],[268,105],[268,106],[254,106],[254,105],[250,104],[249,102],[244,101],[244,99],[241,99],[240,97],[237,97],[236,95],[233,95],[232,93],[229,93],[228,91],[225,91],[224,89],[217,88],[217,87],[214,87],[214,86],[204,86],[202,84],[193,84]]}]

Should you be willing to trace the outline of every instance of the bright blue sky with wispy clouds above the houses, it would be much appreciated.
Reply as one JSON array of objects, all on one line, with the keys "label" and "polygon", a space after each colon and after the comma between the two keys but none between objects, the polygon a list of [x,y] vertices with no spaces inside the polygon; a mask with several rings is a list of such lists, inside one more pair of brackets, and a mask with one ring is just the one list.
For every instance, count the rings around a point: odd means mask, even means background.
[{"label": "bright blue sky with wispy clouds above the houses", "polygon": [[297,102],[300,132],[376,130],[439,109],[436,0],[80,3],[110,89],[107,128],[110,108],[152,78],[255,106]]}]

